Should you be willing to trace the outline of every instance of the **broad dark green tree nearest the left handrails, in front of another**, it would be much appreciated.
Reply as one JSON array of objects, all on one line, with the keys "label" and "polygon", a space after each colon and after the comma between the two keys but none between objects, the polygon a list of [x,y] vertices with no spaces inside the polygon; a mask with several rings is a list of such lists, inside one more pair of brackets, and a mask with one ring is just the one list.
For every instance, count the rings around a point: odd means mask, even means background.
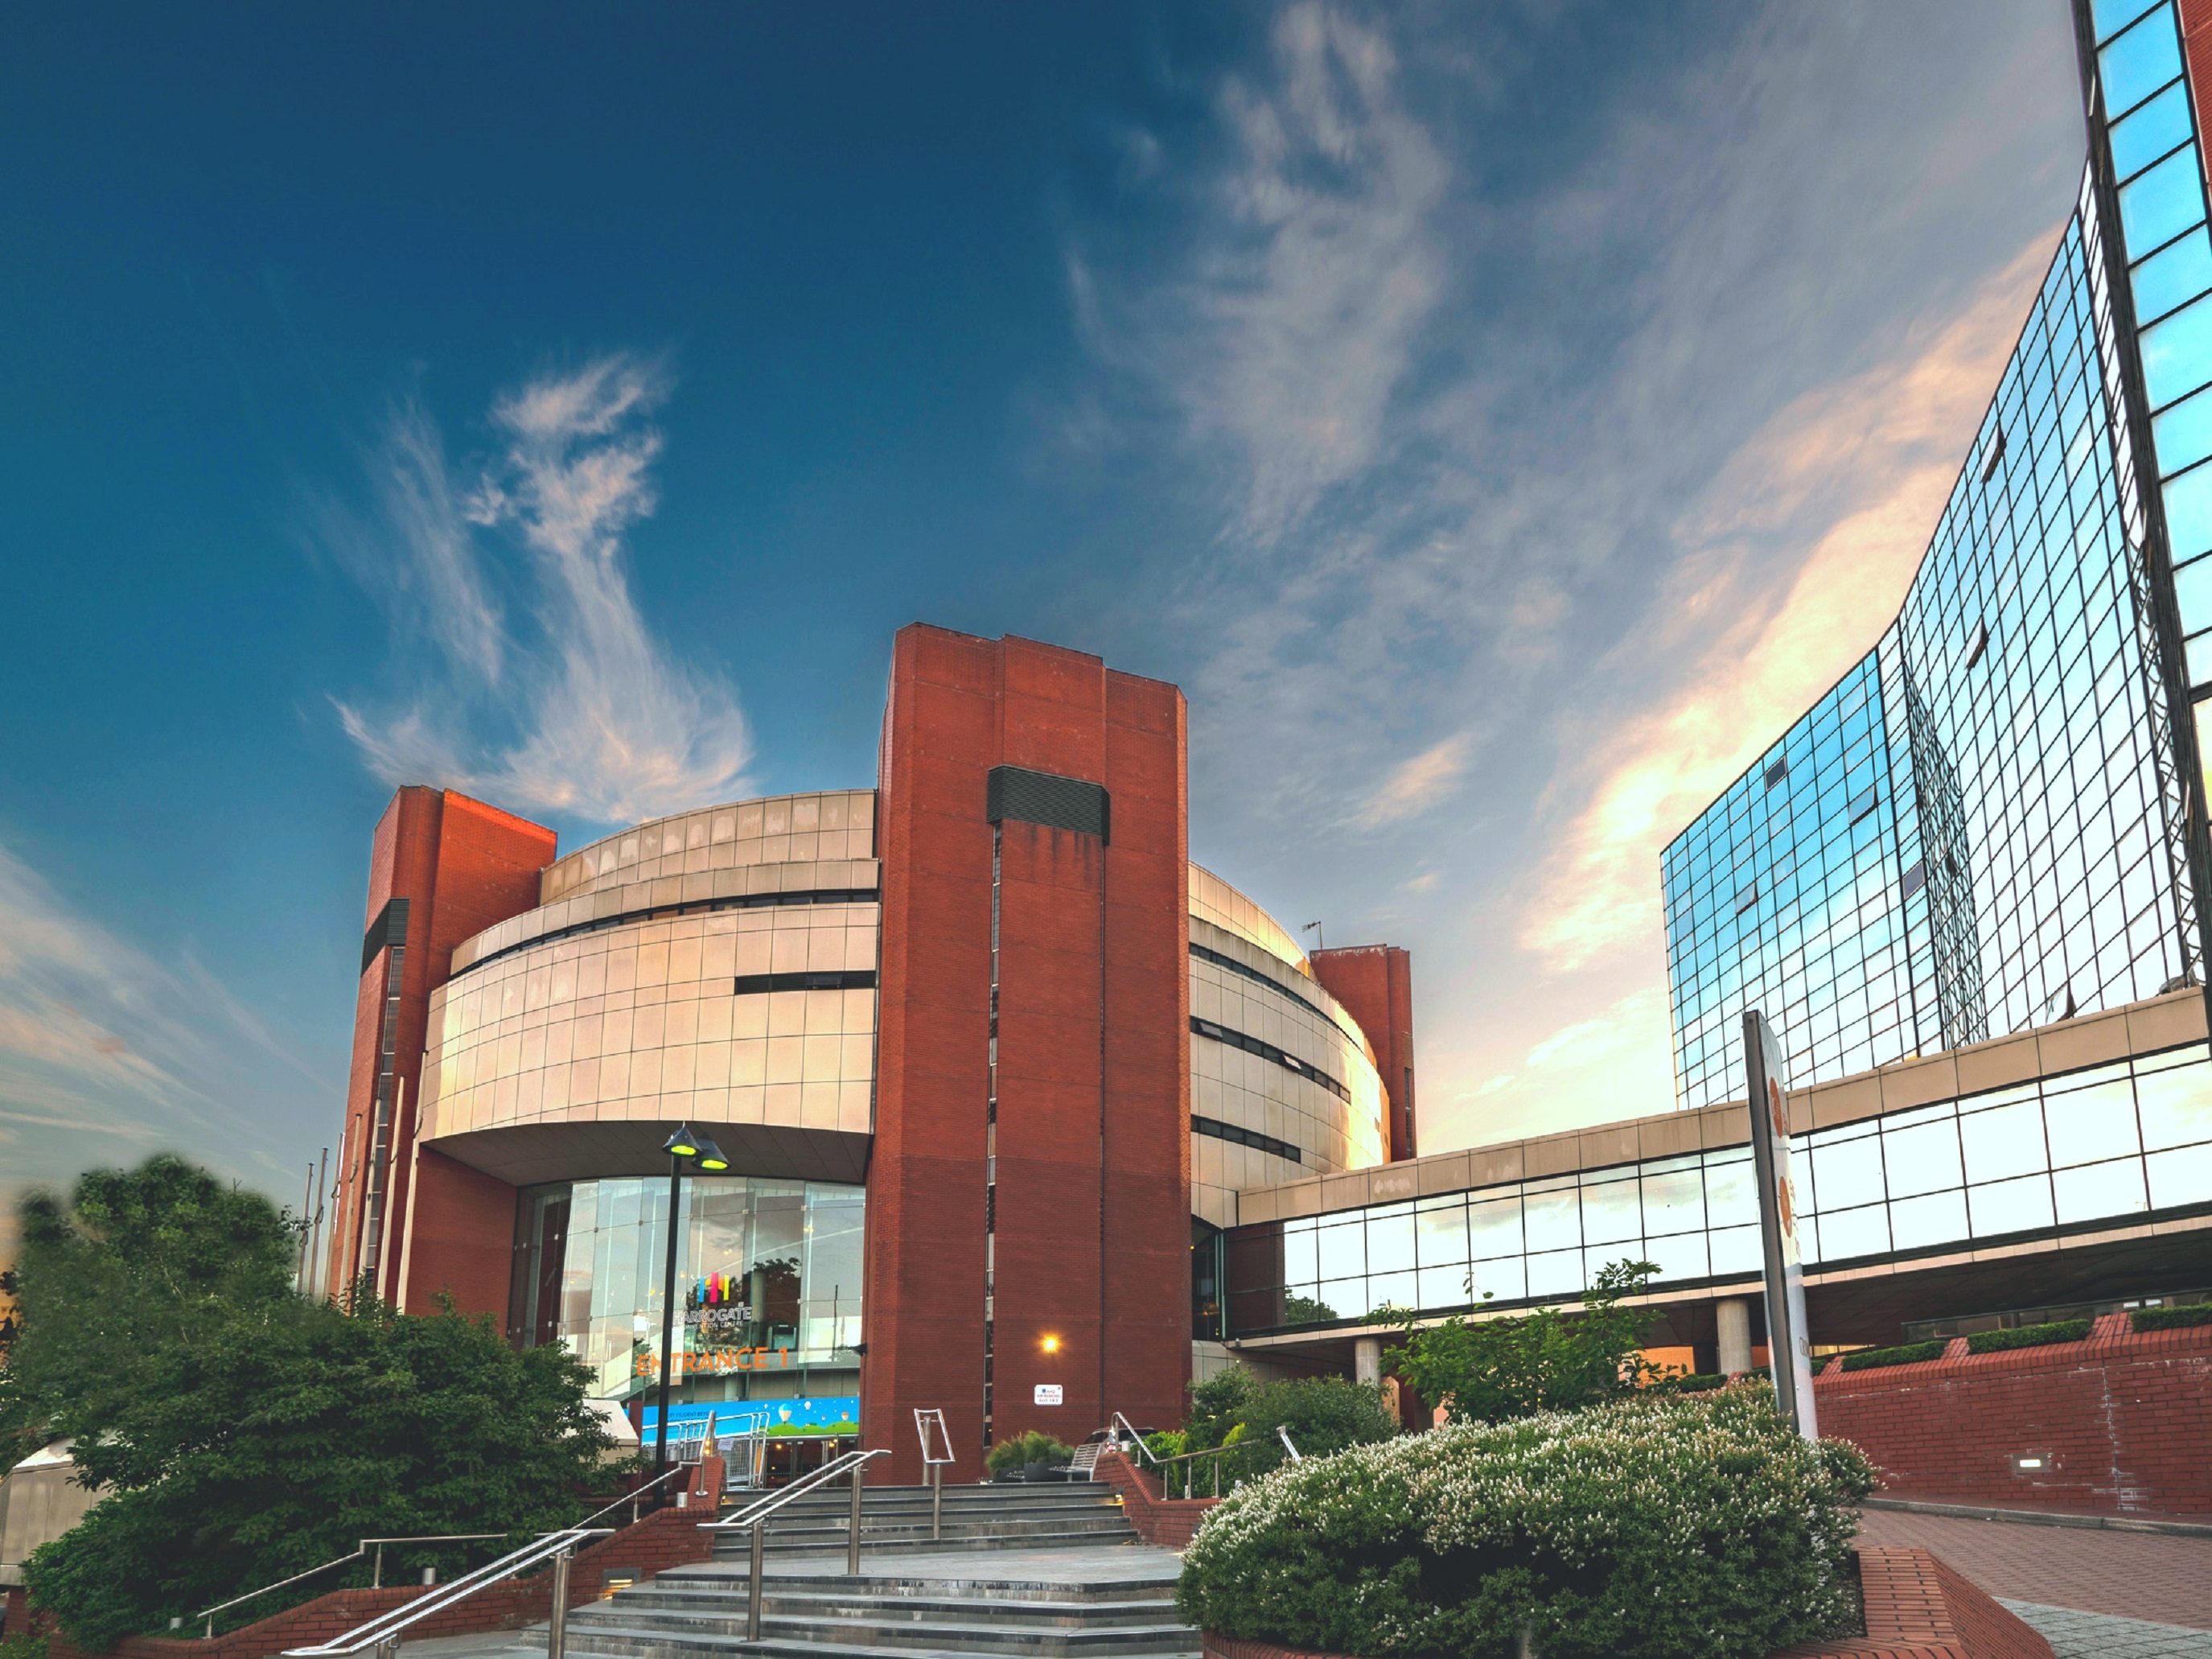
[{"label": "broad dark green tree nearest the left handrails, in front of another", "polygon": [[[613,1447],[586,1380],[564,1349],[515,1352],[489,1318],[451,1310],[288,1301],[212,1318],[150,1354],[142,1391],[77,1442],[106,1498],[31,1555],[24,1582],[75,1641],[106,1650],[361,1537],[566,1524]],[[396,1553],[389,1568],[451,1571],[460,1548]],[[234,1621],[347,1582],[367,1582],[365,1568]]]}]

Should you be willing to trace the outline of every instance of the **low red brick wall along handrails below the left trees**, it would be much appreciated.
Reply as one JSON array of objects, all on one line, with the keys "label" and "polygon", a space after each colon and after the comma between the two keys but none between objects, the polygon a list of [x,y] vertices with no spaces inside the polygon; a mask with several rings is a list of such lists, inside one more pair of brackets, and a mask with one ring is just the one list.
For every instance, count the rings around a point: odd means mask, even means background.
[{"label": "low red brick wall along handrails below the left trees", "polygon": [[[597,1601],[608,1593],[608,1579],[650,1579],[670,1566],[706,1562],[714,1555],[714,1535],[699,1522],[714,1520],[712,1495],[721,1486],[721,1460],[710,1458],[686,1509],[661,1509],[635,1526],[586,1544],[568,1568],[568,1606]],[[420,1584],[396,1584],[380,1590],[332,1590],[268,1619],[226,1630],[215,1641],[192,1637],[126,1637],[113,1652],[119,1659],[270,1659],[285,1648],[312,1648],[367,1624],[396,1606],[425,1595]],[[429,1615],[407,1628],[407,1639],[462,1637],[482,1630],[520,1630],[553,1613],[553,1575],[540,1571],[526,1579],[509,1579],[478,1590],[465,1601]],[[93,1659],[60,1630],[49,1635],[46,1659]]]}]

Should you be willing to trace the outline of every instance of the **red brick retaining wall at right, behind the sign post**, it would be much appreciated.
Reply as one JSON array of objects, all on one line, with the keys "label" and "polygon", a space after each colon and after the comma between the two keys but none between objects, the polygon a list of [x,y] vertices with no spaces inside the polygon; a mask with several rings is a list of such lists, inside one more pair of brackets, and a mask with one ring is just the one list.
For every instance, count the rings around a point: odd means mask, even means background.
[{"label": "red brick retaining wall at right, behind the sign post", "polygon": [[[1814,1378],[1820,1433],[1860,1447],[1902,1498],[2112,1515],[2212,1515],[2212,1325]],[[2042,1469],[2015,1458],[2037,1455]]]}]

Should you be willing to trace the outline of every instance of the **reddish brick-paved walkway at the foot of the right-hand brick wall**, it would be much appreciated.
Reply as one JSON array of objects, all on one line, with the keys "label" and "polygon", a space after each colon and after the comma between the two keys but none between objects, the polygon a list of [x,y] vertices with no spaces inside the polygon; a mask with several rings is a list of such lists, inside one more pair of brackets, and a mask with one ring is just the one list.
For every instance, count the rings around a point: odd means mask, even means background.
[{"label": "reddish brick-paved walkway at the foot of the right-hand brick wall", "polygon": [[1863,1511],[1858,1537],[1933,1551],[2004,1601],[2212,1630],[2212,1537],[1978,1522],[1896,1509]]}]

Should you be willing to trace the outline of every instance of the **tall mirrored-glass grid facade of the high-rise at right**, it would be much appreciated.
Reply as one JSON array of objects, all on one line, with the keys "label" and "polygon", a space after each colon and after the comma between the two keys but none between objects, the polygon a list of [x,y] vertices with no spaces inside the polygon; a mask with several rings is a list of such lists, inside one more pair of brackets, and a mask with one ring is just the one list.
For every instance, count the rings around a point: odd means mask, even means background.
[{"label": "tall mirrored-glass grid facade of the high-rise at right", "polygon": [[1809,1084],[2199,978],[2212,243],[2172,7],[2093,11],[2110,122],[1898,619],[1666,849],[1679,1106],[1745,1009]]}]

